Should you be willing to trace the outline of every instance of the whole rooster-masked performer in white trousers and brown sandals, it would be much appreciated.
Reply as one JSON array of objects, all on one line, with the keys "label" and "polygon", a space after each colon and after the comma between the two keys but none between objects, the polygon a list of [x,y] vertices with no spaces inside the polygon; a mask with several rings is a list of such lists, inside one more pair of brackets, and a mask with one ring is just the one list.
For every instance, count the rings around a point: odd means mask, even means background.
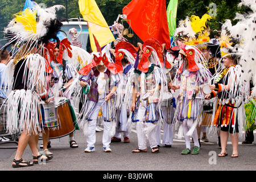
[{"label": "whole rooster-masked performer in white trousers and brown sandals", "polygon": [[[156,39],[148,39],[139,44],[138,56],[134,64],[134,86],[131,121],[136,122],[138,149],[132,152],[147,152],[147,137],[152,153],[158,153],[156,126],[160,119],[159,97],[166,85],[164,77],[162,46]],[[137,98],[137,94],[139,97]],[[160,124],[160,123],[159,123]]]}]

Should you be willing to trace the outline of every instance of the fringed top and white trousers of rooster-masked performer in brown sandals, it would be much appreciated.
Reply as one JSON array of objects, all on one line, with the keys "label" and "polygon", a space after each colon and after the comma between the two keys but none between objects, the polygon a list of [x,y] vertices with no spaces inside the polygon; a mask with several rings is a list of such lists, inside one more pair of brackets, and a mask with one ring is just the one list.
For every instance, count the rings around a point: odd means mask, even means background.
[{"label": "fringed top and white trousers of rooster-masked performer in brown sandals", "polygon": [[131,115],[131,119],[132,122],[136,122],[138,147],[140,150],[147,148],[147,137],[151,148],[158,146],[158,143],[156,142],[156,126],[160,119],[160,110],[158,107],[159,91],[154,92],[154,94],[148,97],[147,100],[142,100],[142,98],[148,90],[158,90],[158,85],[161,84],[159,77],[160,68],[152,64],[148,67],[149,69],[150,67],[153,67],[151,73],[141,72],[141,74],[138,75],[139,80],[134,82],[135,88],[139,88],[138,91],[140,96],[135,111]]}]

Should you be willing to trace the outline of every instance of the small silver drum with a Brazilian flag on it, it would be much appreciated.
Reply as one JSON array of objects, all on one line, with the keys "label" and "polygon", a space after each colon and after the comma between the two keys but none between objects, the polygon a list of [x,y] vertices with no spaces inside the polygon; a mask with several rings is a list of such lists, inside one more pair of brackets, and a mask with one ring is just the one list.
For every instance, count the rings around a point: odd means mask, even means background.
[{"label": "small silver drum with a Brazilian flag on it", "polygon": [[42,111],[42,123],[44,127],[57,127],[59,123],[57,122],[57,109],[54,102],[41,103]]}]

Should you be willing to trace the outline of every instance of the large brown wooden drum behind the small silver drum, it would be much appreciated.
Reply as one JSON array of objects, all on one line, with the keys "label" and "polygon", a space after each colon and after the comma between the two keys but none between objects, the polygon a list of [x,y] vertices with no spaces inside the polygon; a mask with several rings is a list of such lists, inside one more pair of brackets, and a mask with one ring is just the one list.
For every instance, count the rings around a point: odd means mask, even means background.
[{"label": "large brown wooden drum behind the small silver drum", "polygon": [[57,120],[60,126],[56,130],[49,130],[49,139],[65,137],[75,130],[67,98],[59,97],[58,100]]}]

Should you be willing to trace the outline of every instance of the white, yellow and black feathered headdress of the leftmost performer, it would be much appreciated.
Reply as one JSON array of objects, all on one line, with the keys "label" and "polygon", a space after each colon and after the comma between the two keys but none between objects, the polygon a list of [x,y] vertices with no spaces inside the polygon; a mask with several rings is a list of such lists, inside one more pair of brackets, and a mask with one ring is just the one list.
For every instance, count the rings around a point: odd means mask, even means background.
[{"label": "white, yellow and black feathered headdress of the leftmost performer", "polygon": [[[30,42],[33,46],[47,44],[50,39],[57,39],[57,32],[60,31],[62,23],[56,18],[56,10],[63,9],[62,5],[55,5],[43,9],[35,3],[33,9],[27,8],[24,11],[14,14],[13,20],[4,30],[8,43],[4,48],[13,46],[13,53]],[[33,47],[32,46],[32,47]],[[31,48],[32,48],[31,47]],[[28,52],[31,49],[29,48]]]}]

